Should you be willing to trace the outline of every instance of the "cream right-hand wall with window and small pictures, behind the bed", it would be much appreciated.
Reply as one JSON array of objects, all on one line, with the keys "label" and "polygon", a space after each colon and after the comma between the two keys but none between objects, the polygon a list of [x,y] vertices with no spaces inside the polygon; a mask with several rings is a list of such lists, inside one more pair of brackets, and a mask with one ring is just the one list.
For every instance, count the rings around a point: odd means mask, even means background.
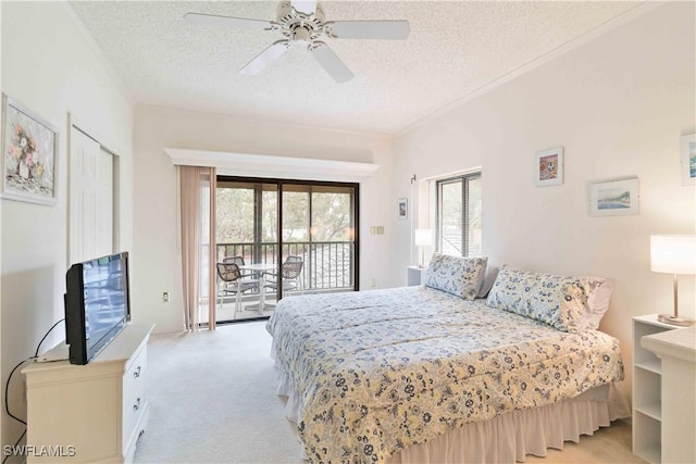
[{"label": "cream right-hand wall with window and small pictures, behind the bed", "polygon": [[[680,178],[680,136],[696,130],[694,3],[659,7],[395,137],[393,200],[427,177],[483,166],[492,265],[613,278],[601,329],[631,366],[631,317],[672,311],[671,275],[649,266],[650,234],[695,234],[695,188]],[[537,188],[536,151],[566,149],[564,183]],[[588,183],[636,175],[641,212],[588,215]],[[395,250],[410,247],[400,224]],[[395,253],[399,269],[409,264]],[[395,271],[396,272],[396,271]],[[680,279],[694,316],[694,279]]]}]

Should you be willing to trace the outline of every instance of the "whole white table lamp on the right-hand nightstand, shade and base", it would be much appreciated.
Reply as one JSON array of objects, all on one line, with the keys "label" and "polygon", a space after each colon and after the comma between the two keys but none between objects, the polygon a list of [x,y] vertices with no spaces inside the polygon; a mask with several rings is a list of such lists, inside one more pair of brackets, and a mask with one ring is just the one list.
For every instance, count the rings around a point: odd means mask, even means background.
[{"label": "whole white table lamp on the right-hand nightstand, shade and base", "polygon": [[660,314],[658,321],[678,326],[692,326],[694,319],[679,315],[676,278],[696,274],[696,236],[650,236],[650,271],[674,275],[674,314]]}]

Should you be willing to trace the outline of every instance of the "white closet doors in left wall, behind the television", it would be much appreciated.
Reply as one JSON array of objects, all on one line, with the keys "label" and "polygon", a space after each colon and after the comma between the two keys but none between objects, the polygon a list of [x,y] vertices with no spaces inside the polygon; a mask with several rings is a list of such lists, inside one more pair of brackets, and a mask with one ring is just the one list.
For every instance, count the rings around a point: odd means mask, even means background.
[{"label": "white closet doors in left wall, behind the television", "polygon": [[70,262],[113,252],[113,155],[72,127],[70,153]]}]

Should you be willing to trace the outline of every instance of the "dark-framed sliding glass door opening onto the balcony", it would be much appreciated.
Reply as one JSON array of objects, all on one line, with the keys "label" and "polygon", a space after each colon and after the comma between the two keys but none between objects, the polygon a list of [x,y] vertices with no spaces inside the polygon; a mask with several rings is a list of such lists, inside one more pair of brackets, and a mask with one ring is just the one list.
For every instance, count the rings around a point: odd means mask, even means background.
[{"label": "dark-framed sliding glass door opening onto the balcony", "polygon": [[293,293],[357,290],[357,184],[219,176],[216,200],[217,261],[268,264],[252,272],[262,288],[243,294],[241,311],[222,304],[219,322],[269,316]]}]

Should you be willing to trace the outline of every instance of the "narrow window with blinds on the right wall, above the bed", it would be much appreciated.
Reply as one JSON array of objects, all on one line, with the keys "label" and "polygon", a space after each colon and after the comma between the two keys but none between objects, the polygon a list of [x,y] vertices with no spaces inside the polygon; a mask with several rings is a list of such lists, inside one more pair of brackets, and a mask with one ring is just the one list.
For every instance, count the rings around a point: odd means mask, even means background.
[{"label": "narrow window with blinds on the right wall, above the bed", "polygon": [[437,180],[437,251],[459,256],[483,253],[481,173]]}]

